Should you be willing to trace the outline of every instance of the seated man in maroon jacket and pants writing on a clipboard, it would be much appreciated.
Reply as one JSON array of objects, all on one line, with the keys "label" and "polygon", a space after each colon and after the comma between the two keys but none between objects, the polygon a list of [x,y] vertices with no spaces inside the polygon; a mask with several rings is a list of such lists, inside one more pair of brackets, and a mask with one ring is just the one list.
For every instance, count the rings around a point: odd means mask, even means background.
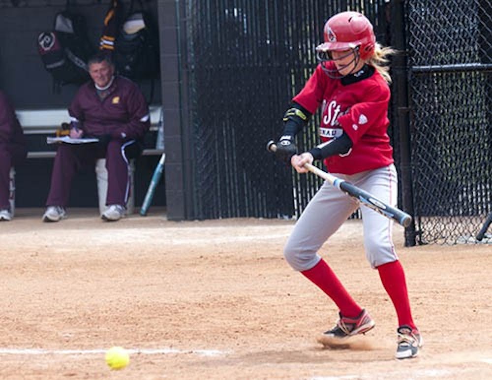
[{"label": "seated man in maroon jacket and pants writing on a clipboard", "polygon": [[98,143],[64,144],[55,156],[44,222],[66,218],[65,207],[73,176],[83,167],[94,167],[106,158],[108,192],[102,214],[105,221],[118,221],[125,214],[130,192],[129,158],[141,152],[139,140],[150,128],[149,107],[137,85],[115,76],[111,58],[99,53],[88,62],[92,81],[81,86],[68,108],[70,137],[97,137]]}]

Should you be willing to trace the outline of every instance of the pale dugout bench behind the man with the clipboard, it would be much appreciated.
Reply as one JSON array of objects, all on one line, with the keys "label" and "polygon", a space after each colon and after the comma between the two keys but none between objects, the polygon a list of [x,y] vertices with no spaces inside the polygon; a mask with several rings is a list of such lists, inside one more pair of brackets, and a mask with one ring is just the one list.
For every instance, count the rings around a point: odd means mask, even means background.
[{"label": "pale dugout bench behind the man with the clipboard", "polygon": [[[163,114],[160,105],[151,105],[150,107],[151,127],[144,139],[144,150],[142,156],[161,156],[164,153],[162,144],[157,144],[159,138],[163,138],[163,130],[159,131],[159,126],[162,126]],[[57,129],[61,128],[62,123],[70,123],[70,117],[66,109],[19,109],[16,110],[17,118],[23,128],[28,147],[27,162],[24,165],[29,165],[30,160],[54,158],[56,155],[57,144],[47,144],[46,137],[56,135]],[[163,140],[161,140],[163,142]],[[158,148],[157,148],[158,147]],[[137,158],[138,159],[138,158]],[[130,179],[132,185],[131,196],[128,200],[128,214],[133,212],[134,207],[134,170],[135,160],[130,162]],[[97,160],[95,165],[95,174],[97,179],[97,195],[99,212],[102,213],[105,209],[106,191],[107,191],[107,171],[105,167],[105,159]],[[46,180],[49,182],[51,178]],[[11,173],[11,194],[12,203],[15,199],[15,170]]]}]

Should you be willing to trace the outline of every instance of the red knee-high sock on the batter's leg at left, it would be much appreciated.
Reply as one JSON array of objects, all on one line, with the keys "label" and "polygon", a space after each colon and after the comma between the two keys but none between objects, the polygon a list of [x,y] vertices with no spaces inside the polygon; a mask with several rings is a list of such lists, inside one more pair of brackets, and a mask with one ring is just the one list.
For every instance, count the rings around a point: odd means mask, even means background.
[{"label": "red knee-high sock on the batter's leg at left", "polygon": [[344,317],[357,317],[361,314],[362,308],[348,294],[338,277],[323,259],[319,260],[311,269],[301,273],[335,302]]}]

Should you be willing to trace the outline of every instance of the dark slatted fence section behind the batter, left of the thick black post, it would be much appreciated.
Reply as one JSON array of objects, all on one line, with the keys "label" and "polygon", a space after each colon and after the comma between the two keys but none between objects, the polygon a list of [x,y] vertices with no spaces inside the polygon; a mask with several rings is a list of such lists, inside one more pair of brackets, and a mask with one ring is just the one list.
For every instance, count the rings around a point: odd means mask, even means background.
[{"label": "dark slatted fence section behind the batter, left of the thick black post", "polygon": [[[365,12],[386,40],[385,1],[188,0],[187,38],[197,218],[301,214],[321,181],[266,152],[316,66],[323,26]],[[314,118],[299,149],[318,141]]]}]

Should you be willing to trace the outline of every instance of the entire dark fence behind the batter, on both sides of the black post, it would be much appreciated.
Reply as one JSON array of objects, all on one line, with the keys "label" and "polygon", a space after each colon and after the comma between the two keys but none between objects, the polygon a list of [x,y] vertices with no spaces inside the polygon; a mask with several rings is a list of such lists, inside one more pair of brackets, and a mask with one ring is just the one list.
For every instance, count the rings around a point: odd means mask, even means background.
[{"label": "entire dark fence behind the batter, on both sides of the black post", "polygon": [[[456,243],[480,229],[492,203],[491,0],[185,3],[192,218],[302,213],[320,180],[294,174],[265,146],[316,66],[325,21],[357,10],[379,42],[390,44],[396,28],[404,35],[412,181],[399,204],[413,207],[411,238]],[[395,4],[403,4],[401,25],[392,24]],[[404,135],[396,114],[390,109],[389,134],[400,174]],[[318,117],[298,136],[300,150],[318,141]]]}]

